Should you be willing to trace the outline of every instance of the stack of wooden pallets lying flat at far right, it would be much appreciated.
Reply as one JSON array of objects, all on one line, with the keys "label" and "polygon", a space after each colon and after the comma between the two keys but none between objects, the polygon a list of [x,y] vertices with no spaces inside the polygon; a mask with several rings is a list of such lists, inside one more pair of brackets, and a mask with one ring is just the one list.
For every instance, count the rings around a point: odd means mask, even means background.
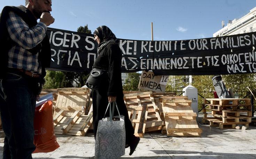
[{"label": "stack of wooden pallets lying flat at far right", "polygon": [[[224,129],[224,126],[231,126],[235,128],[238,124],[244,124],[249,127],[251,122],[252,111],[250,99],[236,99],[236,98],[206,98],[203,99],[203,113],[202,122],[208,120],[210,126],[217,124],[219,129]],[[211,116],[207,113],[211,111]],[[242,121],[240,119],[246,120]]]}]

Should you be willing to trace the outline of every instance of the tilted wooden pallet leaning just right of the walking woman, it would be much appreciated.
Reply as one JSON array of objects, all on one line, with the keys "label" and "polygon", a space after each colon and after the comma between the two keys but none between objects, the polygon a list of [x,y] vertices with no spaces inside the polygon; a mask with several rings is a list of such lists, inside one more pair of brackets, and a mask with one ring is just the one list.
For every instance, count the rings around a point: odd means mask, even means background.
[{"label": "tilted wooden pallet leaning just right of the walking woman", "polygon": [[[155,104],[154,97],[152,96],[152,91],[148,92],[138,92],[133,94],[125,94],[124,101],[127,107],[138,106],[142,107],[143,104],[147,105],[148,111],[146,116],[146,130],[145,132],[161,130],[164,122],[161,120],[158,106]],[[130,112],[130,120],[132,117],[139,116],[140,114],[136,111]],[[137,124],[133,123],[134,128]],[[136,132],[135,132],[136,133]]]}]

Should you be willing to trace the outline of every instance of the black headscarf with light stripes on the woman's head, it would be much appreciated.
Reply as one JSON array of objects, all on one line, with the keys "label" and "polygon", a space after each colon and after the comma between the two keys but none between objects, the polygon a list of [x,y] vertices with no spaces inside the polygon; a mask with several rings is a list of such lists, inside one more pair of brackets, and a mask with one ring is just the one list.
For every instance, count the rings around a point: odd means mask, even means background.
[{"label": "black headscarf with light stripes on the woman's head", "polygon": [[106,46],[110,41],[117,41],[117,38],[114,33],[107,26],[99,26],[95,31],[96,34],[100,38],[100,44],[98,45],[98,53],[100,50]]}]

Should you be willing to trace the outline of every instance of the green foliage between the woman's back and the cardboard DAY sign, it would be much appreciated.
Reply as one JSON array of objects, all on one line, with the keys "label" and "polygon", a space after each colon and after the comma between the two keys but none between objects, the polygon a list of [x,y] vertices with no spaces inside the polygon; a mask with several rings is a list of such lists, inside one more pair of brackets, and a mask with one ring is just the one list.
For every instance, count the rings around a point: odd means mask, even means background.
[{"label": "green foliage between the woman's back and the cardboard DAY sign", "polygon": [[125,85],[123,86],[124,91],[138,91],[140,82],[140,74],[137,72],[126,73],[128,77],[125,79]]}]

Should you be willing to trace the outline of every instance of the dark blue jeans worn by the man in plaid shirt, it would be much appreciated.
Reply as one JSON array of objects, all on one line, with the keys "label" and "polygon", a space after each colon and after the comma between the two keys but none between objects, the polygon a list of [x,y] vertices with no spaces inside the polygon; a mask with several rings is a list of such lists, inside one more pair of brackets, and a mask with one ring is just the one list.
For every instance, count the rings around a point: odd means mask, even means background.
[{"label": "dark blue jeans worn by the man in plaid shirt", "polygon": [[36,149],[34,112],[36,82],[17,73],[7,73],[0,82],[0,113],[5,132],[3,159],[31,159]]}]

